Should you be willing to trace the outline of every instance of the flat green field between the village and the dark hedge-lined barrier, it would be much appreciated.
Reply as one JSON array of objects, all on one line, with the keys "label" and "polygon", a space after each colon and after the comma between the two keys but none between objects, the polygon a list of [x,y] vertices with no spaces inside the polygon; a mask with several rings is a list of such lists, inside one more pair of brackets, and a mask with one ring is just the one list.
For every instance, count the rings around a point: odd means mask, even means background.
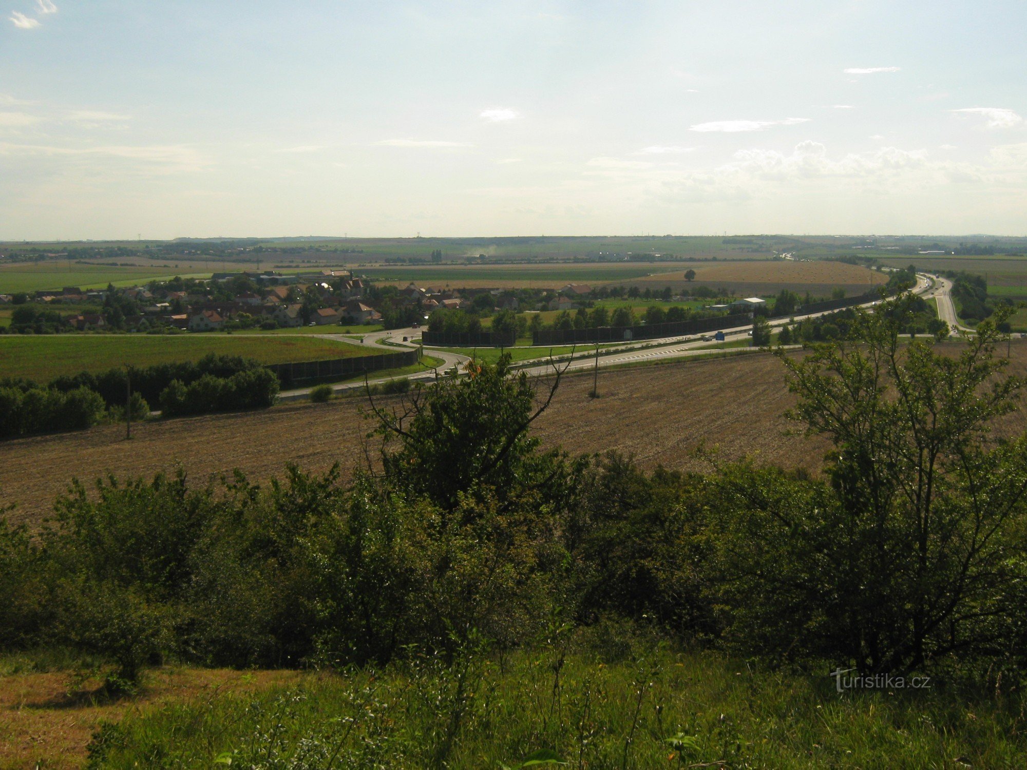
[{"label": "flat green field between the village and the dark hedge-lined barrier", "polygon": [[312,337],[246,335],[52,335],[0,337],[0,377],[45,382],[61,375],[195,360],[207,353],[241,355],[262,363],[378,355],[375,350]]}]

